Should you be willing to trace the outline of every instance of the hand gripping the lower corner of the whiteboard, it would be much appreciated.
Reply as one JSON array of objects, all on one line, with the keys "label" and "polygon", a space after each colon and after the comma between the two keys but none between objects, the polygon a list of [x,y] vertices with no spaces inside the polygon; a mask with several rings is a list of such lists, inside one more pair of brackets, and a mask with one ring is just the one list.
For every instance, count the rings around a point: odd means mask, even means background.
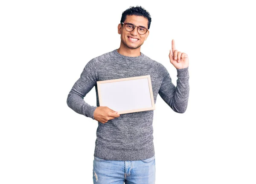
[{"label": "hand gripping the lower corner of the whiteboard", "polygon": [[93,116],[96,121],[106,123],[108,120],[119,117],[120,114],[106,106],[99,106],[94,110]]}]

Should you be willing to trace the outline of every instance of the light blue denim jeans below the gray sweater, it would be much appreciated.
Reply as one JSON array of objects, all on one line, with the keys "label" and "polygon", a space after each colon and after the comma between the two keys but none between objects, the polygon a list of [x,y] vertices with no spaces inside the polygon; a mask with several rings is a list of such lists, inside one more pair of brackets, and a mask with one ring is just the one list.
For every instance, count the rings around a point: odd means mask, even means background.
[{"label": "light blue denim jeans below the gray sweater", "polygon": [[93,184],[154,184],[155,157],[137,161],[93,160]]}]

